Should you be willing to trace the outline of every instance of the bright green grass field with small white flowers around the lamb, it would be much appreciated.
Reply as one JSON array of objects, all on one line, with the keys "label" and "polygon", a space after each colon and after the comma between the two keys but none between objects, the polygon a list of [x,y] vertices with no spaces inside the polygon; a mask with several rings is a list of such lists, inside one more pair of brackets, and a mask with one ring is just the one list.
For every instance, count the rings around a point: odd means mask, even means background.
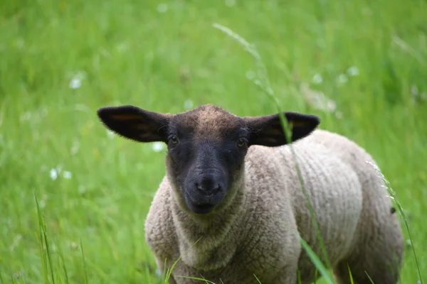
[{"label": "bright green grass field with small white flowers around the lamb", "polygon": [[[317,114],[374,156],[427,271],[426,11],[421,0],[2,1],[0,282],[159,283],[144,219],[165,149],[112,136],[95,111],[273,113],[253,58],[213,23],[256,46],[280,107]],[[401,283],[417,280],[408,246]]]}]

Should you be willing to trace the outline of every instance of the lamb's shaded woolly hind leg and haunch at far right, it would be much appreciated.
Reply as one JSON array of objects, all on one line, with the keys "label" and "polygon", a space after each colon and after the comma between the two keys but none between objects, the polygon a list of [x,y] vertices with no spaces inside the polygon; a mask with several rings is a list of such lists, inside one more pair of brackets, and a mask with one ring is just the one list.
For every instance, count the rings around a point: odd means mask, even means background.
[{"label": "lamb's shaded woolly hind leg and haunch at far right", "polygon": [[[362,177],[364,203],[352,253],[334,269],[339,283],[396,284],[404,255],[404,236],[384,182],[376,173]],[[348,265],[348,266],[347,266]],[[368,277],[369,275],[369,277]],[[369,280],[371,278],[371,280]]]}]

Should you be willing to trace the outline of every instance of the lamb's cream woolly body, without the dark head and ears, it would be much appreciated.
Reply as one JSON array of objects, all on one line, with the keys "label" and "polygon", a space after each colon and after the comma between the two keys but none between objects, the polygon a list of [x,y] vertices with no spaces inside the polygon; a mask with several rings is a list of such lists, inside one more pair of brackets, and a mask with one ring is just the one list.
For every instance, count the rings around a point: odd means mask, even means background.
[{"label": "lamb's cream woolly body, without the dark head and ears", "polygon": [[[322,130],[292,147],[337,279],[349,283],[348,263],[355,283],[369,283],[364,271],[378,283],[396,283],[397,271],[390,270],[396,270],[394,263],[400,267],[403,239],[383,182],[367,163],[374,163],[371,156]],[[318,256],[322,252],[290,146],[251,146],[239,175],[231,203],[221,214],[206,216],[182,209],[171,177],[164,178],[146,221],[159,268],[182,256],[172,283],[199,283],[178,275],[258,283],[255,274],[263,284],[294,284],[297,270],[302,283],[311,283],[315,266],[297,234]]]}]

